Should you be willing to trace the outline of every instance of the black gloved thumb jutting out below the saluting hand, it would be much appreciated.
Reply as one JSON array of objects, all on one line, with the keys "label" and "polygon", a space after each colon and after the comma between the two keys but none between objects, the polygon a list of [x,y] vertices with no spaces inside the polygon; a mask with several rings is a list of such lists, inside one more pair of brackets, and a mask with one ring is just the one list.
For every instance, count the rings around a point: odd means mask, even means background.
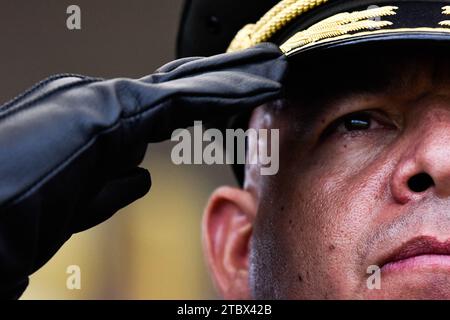
[{"label": "black gloved thumb jutting out below the saluting hand", "polygon": [[135,168],[109,181],[85,212],[71,222],[72,232],[81,232],[104,222],[120,209],[142,198],[150,187],[150,173],[143,168]]}]

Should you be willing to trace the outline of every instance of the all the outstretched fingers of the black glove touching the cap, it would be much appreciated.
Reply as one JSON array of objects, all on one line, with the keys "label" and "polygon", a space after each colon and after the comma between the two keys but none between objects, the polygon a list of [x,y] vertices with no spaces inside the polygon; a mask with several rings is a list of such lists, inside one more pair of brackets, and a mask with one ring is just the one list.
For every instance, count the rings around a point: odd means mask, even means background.
[{"label": "all the outstretched fingers of the black glove touching the cap", "polygon": [[[272,44],[195,59],[161,75],[157,84],[133,83],[133,101],[145,106],[131,133],[147,142],[169,139],[195,120],[224,119],[281,97],[287,60]],[[154,80],[154,79],[153,79]]]}]

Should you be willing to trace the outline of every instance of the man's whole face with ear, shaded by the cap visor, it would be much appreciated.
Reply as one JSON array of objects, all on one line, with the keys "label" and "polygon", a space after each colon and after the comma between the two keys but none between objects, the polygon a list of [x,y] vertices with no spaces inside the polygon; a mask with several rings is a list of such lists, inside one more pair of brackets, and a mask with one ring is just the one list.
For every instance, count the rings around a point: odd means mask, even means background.
[{"label": "man's whole face with ear, shaded by the cap visor", "polygon": [[286,99],[250,120],[280,129],[278,174],[248,166],[205,210],[222,296],[450,298],[448,56],[403,45],[295,62]]}]

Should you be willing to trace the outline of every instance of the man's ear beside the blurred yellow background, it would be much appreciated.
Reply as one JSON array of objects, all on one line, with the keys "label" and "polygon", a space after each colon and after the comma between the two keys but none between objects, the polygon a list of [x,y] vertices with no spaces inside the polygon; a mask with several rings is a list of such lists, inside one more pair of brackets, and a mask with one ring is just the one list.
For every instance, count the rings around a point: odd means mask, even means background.
[{"label": "man's ear beside the blurred yellow background", "polygon": [[225,299],[251,299],[249,248],[257,205],[251,193],[221,187],[203,216],[203,247],[216,288]]}]

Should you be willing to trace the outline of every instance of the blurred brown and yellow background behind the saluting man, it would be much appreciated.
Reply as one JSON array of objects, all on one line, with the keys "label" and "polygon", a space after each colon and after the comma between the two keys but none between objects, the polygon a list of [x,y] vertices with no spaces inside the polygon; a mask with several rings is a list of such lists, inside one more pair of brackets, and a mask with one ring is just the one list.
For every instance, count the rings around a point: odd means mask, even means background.
[{"label": "blurred brown and yellow background behind the saluting man", "polygon": [[[66,28],[81,8],[82,29]],[[0,2],[0,100],[55,73],[141,77],[174,58],[181,0],[5,0]],[[207,17],[205,17],[205,23]],[[209,194],[235,184],[226,166],[175,166],[173,143],[150,145],[150,193],[112,219],[74,235],[31,277],[22,299],[216,298],[201,250]],[[81,268],[69,290],[66,269]]]}]

